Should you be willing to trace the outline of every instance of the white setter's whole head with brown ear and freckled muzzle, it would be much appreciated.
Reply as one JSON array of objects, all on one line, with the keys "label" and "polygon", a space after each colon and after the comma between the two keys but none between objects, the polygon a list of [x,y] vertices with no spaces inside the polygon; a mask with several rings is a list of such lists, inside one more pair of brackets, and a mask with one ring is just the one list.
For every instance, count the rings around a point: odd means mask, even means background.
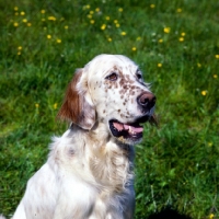
[{"label": "white setter's whole head with brown ear and freckled muzzle", "polygon": [[83,129],[103,123],[111,136],[125,143],[142,138],[140,125],[153,116],[155,96],[138,66],[122,55],[100,55],[70,82],[58,116]]}]

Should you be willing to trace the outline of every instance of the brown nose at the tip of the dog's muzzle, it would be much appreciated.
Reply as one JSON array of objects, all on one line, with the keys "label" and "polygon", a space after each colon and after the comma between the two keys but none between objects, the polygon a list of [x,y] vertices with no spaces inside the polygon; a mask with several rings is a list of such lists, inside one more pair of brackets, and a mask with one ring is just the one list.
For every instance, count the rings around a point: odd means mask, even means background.
[{"label": "brown nose at the tip of the dog's muzzle", "polygon": [[150,92],[143,92],[138,96],[137,102],[145,110],[150,111],[155,105],[155,96]]}]

